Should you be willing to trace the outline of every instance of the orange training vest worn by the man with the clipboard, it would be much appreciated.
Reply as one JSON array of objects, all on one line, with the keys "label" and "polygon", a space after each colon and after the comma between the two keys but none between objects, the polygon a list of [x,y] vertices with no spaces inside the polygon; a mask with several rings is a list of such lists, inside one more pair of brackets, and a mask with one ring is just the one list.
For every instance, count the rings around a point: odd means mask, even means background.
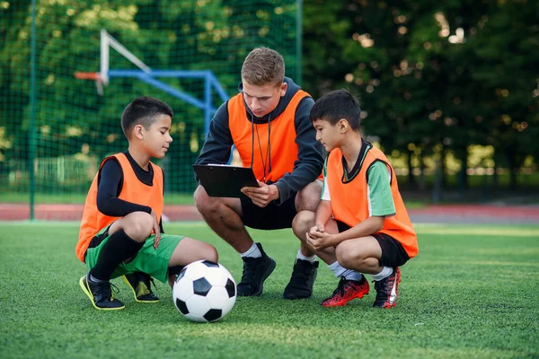
[{"label": "orange training vest worn by the man with the clipboard", "polygon": [[[299,102],[307,96],[310,96],[307,92],[299,90],[292,97],[287,108],[277,118],[271,119],[271,172],[266,172],[266,181],[276,182],[286,173],[294,170],[294,162],[297,161],[298,153],[294,123],[296,109]],[[251,167],[251,153],[254,151],[252,171],[258,180],[263,181],[264,165],[266,171],[270,171],[270,159],[267,158],[268,123],[254,124],[254,144],[252,144],[252,126],[245,112],[242,93],[238,93],[230,99],[227,106],[228,127],[234,145],[242,159],[243,167]]]}]

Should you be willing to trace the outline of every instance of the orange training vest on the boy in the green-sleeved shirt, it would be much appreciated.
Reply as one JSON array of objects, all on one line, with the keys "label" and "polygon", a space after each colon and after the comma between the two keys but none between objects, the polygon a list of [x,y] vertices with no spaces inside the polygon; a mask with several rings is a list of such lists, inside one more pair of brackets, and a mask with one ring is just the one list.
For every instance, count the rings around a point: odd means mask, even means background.
[{"label": "orange training vest on the boy in the green-sleeved shirt", "polygon": [[393,167],[389,164],[384,153],[376,147],[372,147],[367,151],[359,173],[353,180],[346,183],[342,182],[344,175],[342,152],[336,148],[329,154],[326,175],[328,177],[327,182],[330,190],[333,217],[340,222],[348,224],[350,227],[365,221],[369,217],[367,170],[375,161],[382,161],[391,169],[391,192],[396,212],[391,217],[385,217],[384,227],[380,232],[388,234],[399,241],[402,244],[402,248],[408,253],[408,256],[413,258],[419,251],[417,235],[411,226],[410,217],[408,216],[404,202],[402,202]]}]

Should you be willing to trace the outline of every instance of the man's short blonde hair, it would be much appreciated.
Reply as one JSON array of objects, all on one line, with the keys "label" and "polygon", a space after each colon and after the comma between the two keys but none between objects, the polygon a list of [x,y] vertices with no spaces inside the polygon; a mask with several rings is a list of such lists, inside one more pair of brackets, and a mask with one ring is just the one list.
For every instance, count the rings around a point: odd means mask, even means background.
[{"label": "man's short blonde hair", "polygon": [[280,86],[285,81],[285,60],[271,48],[254,48],[243,61],[242,81],[254,86]]}]

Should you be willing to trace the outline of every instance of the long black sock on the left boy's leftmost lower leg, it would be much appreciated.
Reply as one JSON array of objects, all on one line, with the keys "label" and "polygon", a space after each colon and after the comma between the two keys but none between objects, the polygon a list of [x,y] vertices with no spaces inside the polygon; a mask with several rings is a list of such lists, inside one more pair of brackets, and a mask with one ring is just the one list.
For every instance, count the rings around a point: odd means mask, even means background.
[{"label": "long black sock on the left boy's leftmost lower leg", "polygon": [[124,230],[115,232],[105,243],[95,267],[90,270],[90,275],[103,281],[109,281],[116,267],[124,260],[137,256],[138,250],[143,245],[144,242],[131,239]]}]

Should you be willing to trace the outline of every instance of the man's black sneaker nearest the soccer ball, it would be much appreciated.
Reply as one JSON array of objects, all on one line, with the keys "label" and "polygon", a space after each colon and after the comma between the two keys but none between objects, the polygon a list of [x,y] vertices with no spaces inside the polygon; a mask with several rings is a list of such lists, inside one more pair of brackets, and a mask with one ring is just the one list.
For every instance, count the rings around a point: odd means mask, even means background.
[{"label": "man's black sneaker nearest the soccer ball", "polygon": [[268,257],[262,250],[261,243],[256,243],[261,250],[262,257],[243,257],[242,281],[237,285],[238,295],[249,297],[261,295],[264,281],[275,269],[275,260]]}]

